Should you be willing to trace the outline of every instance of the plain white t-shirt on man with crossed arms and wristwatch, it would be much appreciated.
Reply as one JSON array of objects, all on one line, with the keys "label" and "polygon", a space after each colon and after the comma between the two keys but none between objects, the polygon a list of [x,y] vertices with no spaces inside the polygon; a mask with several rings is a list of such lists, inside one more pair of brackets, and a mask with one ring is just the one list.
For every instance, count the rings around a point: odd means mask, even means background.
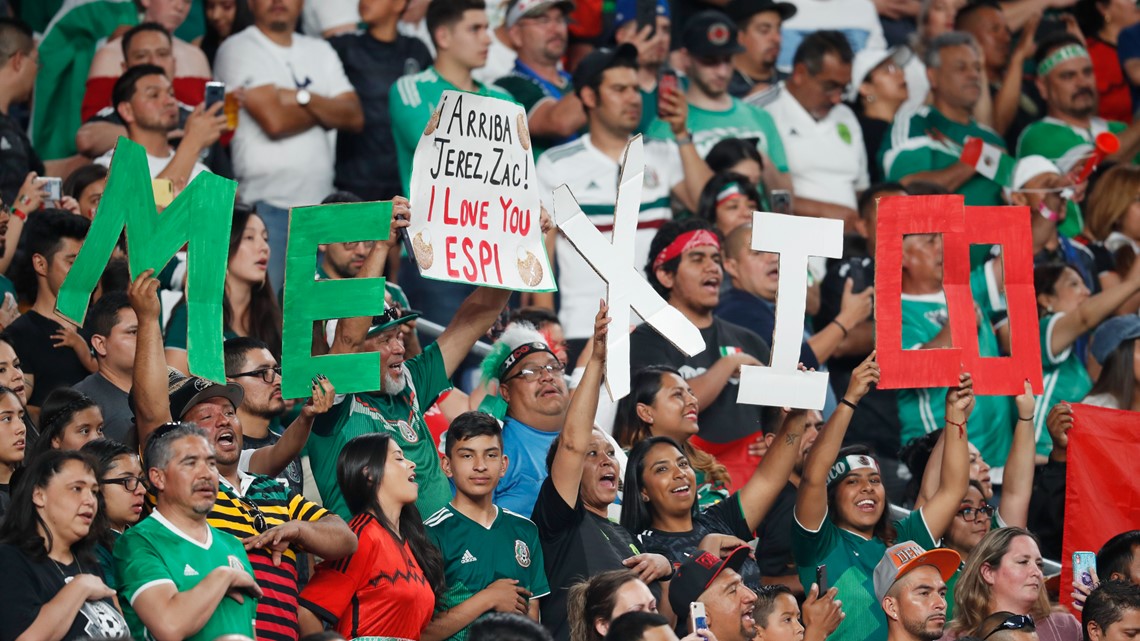
[{"label": "plain white t-shirt on man with crossed arms and wristwatch", "polygon": [[[270,41],[256,26],[226,39],[218,49],[214,75],[227,87],[266,84],[308,89],[335,97],[352,91],[344,67],[328,42],[293,34],[292,47]],[[333,190],[336,132],[312,127],[271,140],[250,112],[242,109],[234,132],[234,173],[242,200],[279,208],[319,203]]]}]

